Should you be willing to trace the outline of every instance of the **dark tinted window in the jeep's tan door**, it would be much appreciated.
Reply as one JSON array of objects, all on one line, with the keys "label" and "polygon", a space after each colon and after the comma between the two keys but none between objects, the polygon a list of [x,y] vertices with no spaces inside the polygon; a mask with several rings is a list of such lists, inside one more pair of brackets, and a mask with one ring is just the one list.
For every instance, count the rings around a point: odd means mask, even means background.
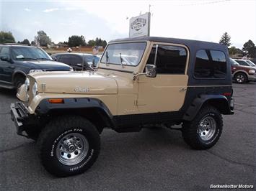
[{"label": "dark tinted window in the jeep's tan door", "polygon": [[[147,64],[154,65],[156,46],[152,47]],[[185,74],[187,51],[184,47],[159,45],[156,57],[157,74]]]}]

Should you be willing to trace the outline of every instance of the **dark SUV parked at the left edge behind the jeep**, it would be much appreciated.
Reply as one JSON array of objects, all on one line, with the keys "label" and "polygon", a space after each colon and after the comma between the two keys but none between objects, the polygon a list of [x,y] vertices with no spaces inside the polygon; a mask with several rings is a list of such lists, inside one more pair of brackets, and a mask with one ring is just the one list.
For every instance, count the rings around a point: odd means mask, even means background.
[{"label": "dark SUV parked at the left edge behind the jeep", "polygon": [[0,45],[0,87],[19,88],[27,73],[73,70],[69,65],[55,62],[43,50],[27,45]]}]

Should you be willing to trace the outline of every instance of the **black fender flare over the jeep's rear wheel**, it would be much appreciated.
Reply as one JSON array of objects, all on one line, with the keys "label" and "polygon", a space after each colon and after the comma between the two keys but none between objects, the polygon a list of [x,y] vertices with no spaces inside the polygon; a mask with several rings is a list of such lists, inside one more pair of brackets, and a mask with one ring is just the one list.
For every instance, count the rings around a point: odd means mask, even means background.
[{"label": "black fender flare over the jeep's rear wheel", "polygon": [[192,121],[193,118],[195,118],[195,116],[197,115],[198,111],[200,111],[200,108],[202,108],[202,106],[206,103],[216,107],[223,114],[231,113],[229,101],[226,98],[226,96],[203,94],[199,95],[197,98],[193,100],[193,102],[187,108],[187,111],[185,111],[185,114],[182,119],[185,121]]}]

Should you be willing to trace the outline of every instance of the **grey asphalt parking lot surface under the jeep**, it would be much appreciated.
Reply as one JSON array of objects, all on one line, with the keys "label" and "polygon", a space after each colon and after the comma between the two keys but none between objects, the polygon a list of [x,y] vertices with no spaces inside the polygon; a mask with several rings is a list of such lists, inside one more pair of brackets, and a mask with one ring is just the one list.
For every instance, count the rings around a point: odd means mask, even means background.
[{"label": "grey asphalt parking lot surface under the jeep", "polygon": [[210,190],[211,185],[256,186],[256,83],[234,84],[235,114],[212,149],[195,151],[181,132],[104,130],[102,149],[84,174],[56,178],[37,157],[34,141],[17,136],[9,105],[12,90],[0,88],[0,190]]}]

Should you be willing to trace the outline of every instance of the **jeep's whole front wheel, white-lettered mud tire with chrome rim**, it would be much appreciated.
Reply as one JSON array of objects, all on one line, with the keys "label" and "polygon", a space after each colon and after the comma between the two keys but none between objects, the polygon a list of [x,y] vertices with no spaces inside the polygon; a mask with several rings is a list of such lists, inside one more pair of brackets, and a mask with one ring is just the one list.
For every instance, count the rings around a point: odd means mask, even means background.
[{"label": "jeep's whole front wheel, white-lettered mud tire with chrome rim", "polygon": [[66,177],[85,172],[100,153],[96,127],[80,116],[57,117],[38,138],[40,159],[50,174]]}]

